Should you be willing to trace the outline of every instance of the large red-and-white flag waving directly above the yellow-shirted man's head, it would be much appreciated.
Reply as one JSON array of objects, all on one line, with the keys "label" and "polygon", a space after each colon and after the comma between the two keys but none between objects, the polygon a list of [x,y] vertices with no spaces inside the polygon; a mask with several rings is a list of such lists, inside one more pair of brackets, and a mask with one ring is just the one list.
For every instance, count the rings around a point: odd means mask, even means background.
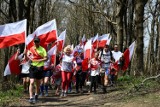
[{"label": "large red-and-white flag waving directly above the yellow-shirted man's head", "polygon": [[57,40],[57,25],[56,20],[51,20],[39,26],[34,33],[29,35],[26,39],[26,45],[33,44],[34,37],[39,37],[40,45],[47,49],[47,45]]}]

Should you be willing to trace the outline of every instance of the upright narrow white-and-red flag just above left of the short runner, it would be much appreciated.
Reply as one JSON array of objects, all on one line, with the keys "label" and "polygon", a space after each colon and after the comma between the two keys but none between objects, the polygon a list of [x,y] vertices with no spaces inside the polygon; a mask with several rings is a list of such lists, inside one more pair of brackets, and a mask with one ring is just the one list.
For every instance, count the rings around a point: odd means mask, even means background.
[{"label": "upright narrow white-and-red flag just above left of the short runner", "polygon": [[87,43],[84,46],[84,59],[88,58],[90,59],[92,56],[92,40],[88,40]]}]

